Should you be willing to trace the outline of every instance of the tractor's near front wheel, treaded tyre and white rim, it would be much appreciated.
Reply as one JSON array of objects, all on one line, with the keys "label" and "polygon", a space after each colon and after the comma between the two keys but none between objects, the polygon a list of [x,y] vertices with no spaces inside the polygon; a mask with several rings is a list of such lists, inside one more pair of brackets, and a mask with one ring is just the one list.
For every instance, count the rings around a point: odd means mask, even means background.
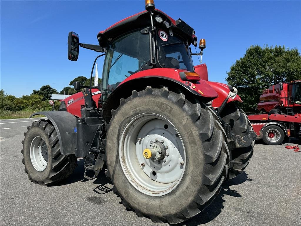
[{"label": "tractor's near front wheel, treaded tyre and white rim", "polygon": [[57,132],[49,120],[39,120],[24,133],[22,162],[29,180],[35,184],[55,184],[76,167],[75,155],[62,155]]}]

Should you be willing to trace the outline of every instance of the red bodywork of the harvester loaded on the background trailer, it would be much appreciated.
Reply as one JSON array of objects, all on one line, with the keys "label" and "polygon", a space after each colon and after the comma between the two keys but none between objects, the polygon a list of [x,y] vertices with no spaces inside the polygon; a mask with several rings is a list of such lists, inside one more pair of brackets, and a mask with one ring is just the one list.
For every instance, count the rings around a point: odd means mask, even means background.
[{"label": "red bodywork of the harvester loaded on the background trailer", "polygon": [[[294,81],[294,83],[299,83],[301,80]],[[265,89],[259,98],[259,103],[257,104],[257,109],[259,111],[264,110],[269,112],[274,108],[278,107],[300,107],[299,104],[294,104],[290,101],[289,96],[289,86],[293,83],[282,83],[283,89],[281,90],[281,84],[272,85],[269,89]]]}]

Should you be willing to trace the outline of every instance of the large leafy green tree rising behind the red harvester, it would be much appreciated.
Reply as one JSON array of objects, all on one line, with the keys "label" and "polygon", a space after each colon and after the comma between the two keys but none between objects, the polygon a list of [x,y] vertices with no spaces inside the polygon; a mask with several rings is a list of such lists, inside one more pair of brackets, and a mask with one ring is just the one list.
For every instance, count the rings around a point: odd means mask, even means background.
[{"label": "large leafy green tree rising behind the red harvester", "polygon": [[247,113],[254,113],[264,89],[301,79],[301,56],[298,49],[284,46],[250,46],[227,74],[228,84],[237,88],[244,101],[241,107]]}]

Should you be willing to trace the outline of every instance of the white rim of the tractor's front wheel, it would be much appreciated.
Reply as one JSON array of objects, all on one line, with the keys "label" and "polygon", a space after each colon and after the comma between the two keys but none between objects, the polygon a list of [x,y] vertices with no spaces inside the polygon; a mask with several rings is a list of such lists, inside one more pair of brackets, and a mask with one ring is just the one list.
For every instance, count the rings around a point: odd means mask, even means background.
[{"label": "white rim of the tractor's front wheel", "polygon": [[45,145],[45,141],[39,136],[34,137],[30,144],[31,163],[33,164],[33,167],[40,172],[45,170],[47,166],[47,162],[42,155],[42,147]]}]

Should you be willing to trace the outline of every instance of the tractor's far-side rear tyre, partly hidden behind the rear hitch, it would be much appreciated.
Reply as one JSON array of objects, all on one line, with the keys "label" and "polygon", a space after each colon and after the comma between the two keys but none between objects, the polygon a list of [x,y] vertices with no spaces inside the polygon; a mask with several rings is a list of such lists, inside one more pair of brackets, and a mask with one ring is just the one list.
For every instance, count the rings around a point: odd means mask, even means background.
[{"label": "tractor's far-side rear tyre, partly hidden behind the rear hitch", "polygon": [[[253,130],[246,113],[233,102],[225,106],[220,116],[225,123],[231,126],[231,132],[235,135],[244,137],[247,131]],[[254,144],[255,142],[253,141],[248,147],[230,150],[231,158],[228,180],[239,175],[247,167],[253,155]]]}]

